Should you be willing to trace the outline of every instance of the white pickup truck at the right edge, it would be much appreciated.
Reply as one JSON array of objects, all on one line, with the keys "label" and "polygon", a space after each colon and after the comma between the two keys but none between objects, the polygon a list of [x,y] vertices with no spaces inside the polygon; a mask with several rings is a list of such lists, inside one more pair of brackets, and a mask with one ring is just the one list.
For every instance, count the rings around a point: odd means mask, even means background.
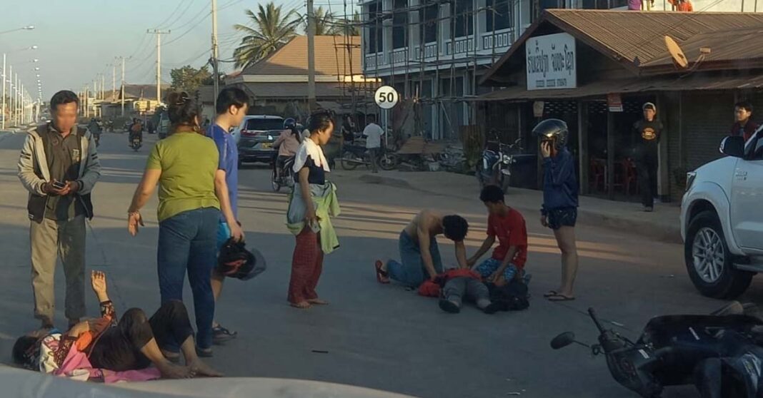
[{"label": "white pickup truck at the right edge", "polygon": [[763,127],[746,143],[726,137],[720,151],[727,156],[687,173],[681,236],[697,290],[730,299],[763,272]]}]

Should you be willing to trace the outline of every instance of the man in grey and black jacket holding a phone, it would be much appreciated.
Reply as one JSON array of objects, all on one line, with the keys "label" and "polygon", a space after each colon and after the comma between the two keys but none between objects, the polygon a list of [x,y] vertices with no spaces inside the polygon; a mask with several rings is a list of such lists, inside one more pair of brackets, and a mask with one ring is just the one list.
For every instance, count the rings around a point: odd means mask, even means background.
[{"label": "man in grey and black jacket holding a phone", "polygon": [[101,164],[92,135],[77,126],[79,98],[59,91],[50,100],[53,121],[30,130],[18,160],[18,178],[29,191],[34,316],[53,327],[53,273],[60,256],[66,276],[69,326],[85,316],[85,217],[92,219],[92,191]]}]

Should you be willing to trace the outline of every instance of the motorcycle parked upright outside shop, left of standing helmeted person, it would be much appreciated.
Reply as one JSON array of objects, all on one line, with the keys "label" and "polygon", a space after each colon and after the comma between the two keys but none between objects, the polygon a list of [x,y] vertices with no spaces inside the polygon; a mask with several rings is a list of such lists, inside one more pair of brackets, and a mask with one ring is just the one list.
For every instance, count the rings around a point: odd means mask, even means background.
[{"label": "motorcycle parked upright outside shop, left of standing helmeted person", "polygon": [[475,174],[481,187],[497,185],[507,191],[513,156],[522,152],[521,139],[517,139],[512,144],[504,144],[498,140],[497,133],[493,132],[492,136],[493,140],[488,140],[485,143],[485,149],[482,150],[481,161],[477,162]]}]

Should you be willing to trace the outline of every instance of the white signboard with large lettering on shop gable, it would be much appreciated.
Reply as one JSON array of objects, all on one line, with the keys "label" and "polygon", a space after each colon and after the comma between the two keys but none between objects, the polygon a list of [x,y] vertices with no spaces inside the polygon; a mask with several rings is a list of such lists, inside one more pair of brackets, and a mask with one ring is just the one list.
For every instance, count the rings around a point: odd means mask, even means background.
[{"label": "white signboard with large lettering on shop gable", "polygon": [[530,37],[525,49],[528,90],[578,87],[575,37],[571,34]]}]

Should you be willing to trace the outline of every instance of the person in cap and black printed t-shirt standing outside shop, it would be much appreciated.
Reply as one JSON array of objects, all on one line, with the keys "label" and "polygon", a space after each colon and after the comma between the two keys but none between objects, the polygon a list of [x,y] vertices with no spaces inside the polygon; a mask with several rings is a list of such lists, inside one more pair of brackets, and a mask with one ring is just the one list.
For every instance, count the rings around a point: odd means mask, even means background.
[{"label": "person in cap and black printed t-shirt standing outside shop", "polygon": [[644,211],[655,209],[657,196],[657,169],[659,166],[658,144],[662,136],[662,122],[657,119],[657,107],[647,102],[642,107],[643,119],[633,124],[633,131],[638,136],[636,144],[636,173],[641,191],[641,204]]}]

